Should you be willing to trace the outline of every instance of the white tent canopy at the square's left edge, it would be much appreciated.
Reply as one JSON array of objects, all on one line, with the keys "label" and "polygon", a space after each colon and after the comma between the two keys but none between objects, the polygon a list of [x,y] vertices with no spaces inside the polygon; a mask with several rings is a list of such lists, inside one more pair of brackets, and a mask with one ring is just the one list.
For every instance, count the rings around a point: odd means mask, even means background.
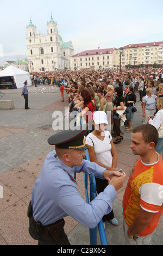
[{"label": "white tent canopy at the square's left edge", "polygon": [[16,87],[22,88],[24,82],[27,80],[28,86],[32,86],[32,81],[28,72],[15,68],[15,66],[8,66],[8,68],[0,72],[0,77],[14,76]]}]

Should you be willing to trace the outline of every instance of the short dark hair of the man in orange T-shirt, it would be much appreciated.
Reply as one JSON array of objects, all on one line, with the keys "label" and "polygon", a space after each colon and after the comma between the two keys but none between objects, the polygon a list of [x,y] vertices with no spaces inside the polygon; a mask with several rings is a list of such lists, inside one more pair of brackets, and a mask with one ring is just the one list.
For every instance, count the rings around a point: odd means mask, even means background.
[{"label": "short dark hair of the man in orange T-shirt", "polygon": [[154,142],[154,147],[158,144],[158,130],[151,124],[142,124],[133,129],[133,133],[141,132],[145,143]]}]

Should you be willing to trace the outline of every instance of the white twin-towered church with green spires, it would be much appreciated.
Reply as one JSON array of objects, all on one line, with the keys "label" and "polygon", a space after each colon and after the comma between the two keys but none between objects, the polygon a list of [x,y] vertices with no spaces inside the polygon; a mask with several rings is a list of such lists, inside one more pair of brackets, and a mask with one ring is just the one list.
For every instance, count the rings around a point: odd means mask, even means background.
[{"label": "white twin-towered church with green spires", "polygon": [[37,28],[30,18],[26,37],[29,72],[70,69],[70,56],[74,54],[72,42],[62,40],[52,14],[47,27],[47,35],[37,34]]}]

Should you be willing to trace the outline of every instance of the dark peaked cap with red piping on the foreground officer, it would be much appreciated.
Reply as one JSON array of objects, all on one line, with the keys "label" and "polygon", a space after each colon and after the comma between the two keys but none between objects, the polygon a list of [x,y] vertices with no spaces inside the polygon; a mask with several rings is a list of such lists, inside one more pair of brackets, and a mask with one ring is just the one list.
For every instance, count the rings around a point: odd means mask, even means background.
[{"label": "dark peaked cap with red piping on the foreground officer", "polygon": [[48,143],[61,149],[86,150],[85,135],[87,125],[84,124],[75,128],[75,130],[62,131],[51,136],[48,138]]}]

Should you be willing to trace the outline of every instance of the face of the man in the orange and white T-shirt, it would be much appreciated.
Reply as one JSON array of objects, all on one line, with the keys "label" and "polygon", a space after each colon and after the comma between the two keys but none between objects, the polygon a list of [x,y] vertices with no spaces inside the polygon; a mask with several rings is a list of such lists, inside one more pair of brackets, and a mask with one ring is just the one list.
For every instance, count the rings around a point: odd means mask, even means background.
[{"label": "face of the man in the orange and white T-shirt", "polygon": [[134,155],[145,156],[148,152],[149,143],[146,143],[143,139],[142,133],[131,133],[131,145],[130,148]]}]

